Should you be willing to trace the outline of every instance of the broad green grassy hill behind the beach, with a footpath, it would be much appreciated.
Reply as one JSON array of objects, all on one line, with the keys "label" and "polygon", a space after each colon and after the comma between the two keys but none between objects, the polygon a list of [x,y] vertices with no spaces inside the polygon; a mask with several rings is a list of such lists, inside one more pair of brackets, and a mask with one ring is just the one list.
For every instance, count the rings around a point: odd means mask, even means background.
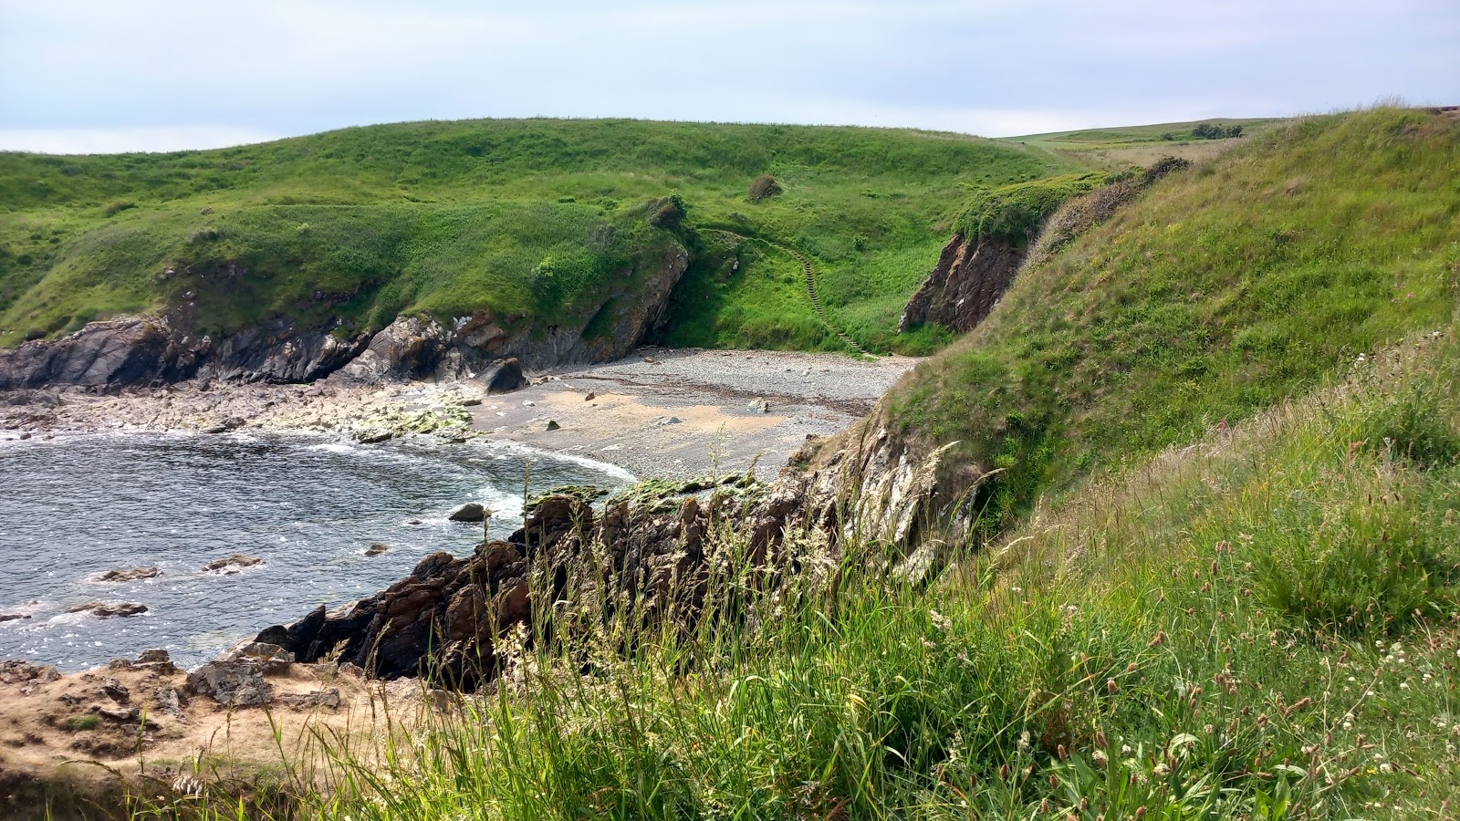
[{"label": "broad green grassy hill behind the beach, with a footpath", "polygon": [[[692,269],[669,342],[838,348],[796,261],[739,237],[810,256],[835,321],[891,346],[961,200],[1069,169],[962,134],[629,120],[409,123],[161,155],[0,153],[0,346],[162,313],[188,292],[200,333],[267,317],[356,333],[399,313],[477,310],[584,321],[609,280],[682,244]],[[750,202],[765,174],[783,191]],[[685,226],[656,218],[672,194]]]}]

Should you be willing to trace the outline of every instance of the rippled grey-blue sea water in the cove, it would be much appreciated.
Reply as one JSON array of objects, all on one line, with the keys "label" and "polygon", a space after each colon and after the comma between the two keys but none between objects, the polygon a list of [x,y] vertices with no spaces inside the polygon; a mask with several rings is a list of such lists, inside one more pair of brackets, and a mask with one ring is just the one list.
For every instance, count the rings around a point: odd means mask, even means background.
[{"label": "rippled grey-blue sea water in the cove", "polygon": [[[371,446],[283,435],[74,435],[0,443],[0,657],[64,671],[165,647],[200,663],[235,640],[318,605],[368,596],[429,552],[470,554],[480,524],[454,524],[464,501],[491,508],[492,535],[521,524],[531,492],[613,488],[631,476],[517,446],[431,438]],[[409,524],[420,520],[420,524]],[[372,542],[390,552],[366,557]],[[204,573],[242,552],[266,561]],[[102,583],[108,570],[162,576]],[[101,619],[66,609],[137,602],[147,614]]]}]

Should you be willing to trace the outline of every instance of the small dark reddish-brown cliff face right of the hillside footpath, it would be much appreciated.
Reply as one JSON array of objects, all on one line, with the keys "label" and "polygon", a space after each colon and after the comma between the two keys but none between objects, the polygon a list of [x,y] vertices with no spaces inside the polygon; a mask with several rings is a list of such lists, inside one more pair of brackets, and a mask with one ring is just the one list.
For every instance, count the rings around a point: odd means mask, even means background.
[{"label": "small dark reddish-brown cliff face right of the hillside footpath", "polygon": [[1013,283],[1025,251],[1025,247],[1000,240],[978,241],[955,234],[939,254],[937,266],[908,299],[898,332],[937,323],[968,333]]}]

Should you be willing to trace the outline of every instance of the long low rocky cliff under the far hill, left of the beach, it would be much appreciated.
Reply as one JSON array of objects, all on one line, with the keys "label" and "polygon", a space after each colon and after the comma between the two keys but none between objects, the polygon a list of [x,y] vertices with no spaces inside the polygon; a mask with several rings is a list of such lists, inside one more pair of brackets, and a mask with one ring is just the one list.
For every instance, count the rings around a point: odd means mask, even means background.
[{"label": "long low rocky cliff under the far hill, left of the beach", "polygon": [[334,373],[358,380],[461,378],[510,358],[527,368],[602,362],[625,356],[644,339],[688,261],[682,248],[666,251],[641,272],[638,286],[610,292],[585,327],[524,321],[504,330],[479,313],[450,324],[402,316],[375,335],[353,337],[333,327],[269,321],[215,340],[188,333],[184,304],[165,317],[93,321],[57,340],[0,352],[0,390],[108,390],[194,378],[298,383]]}]

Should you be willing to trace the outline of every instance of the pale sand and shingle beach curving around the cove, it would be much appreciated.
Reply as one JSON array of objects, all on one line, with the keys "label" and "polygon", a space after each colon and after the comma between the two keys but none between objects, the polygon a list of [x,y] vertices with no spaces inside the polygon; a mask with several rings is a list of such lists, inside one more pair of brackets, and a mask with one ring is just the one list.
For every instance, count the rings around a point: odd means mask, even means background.
[{"label": "pale sand and shingle beach curving around the cove", "polygon": [[472,380],[356,386],[171,386],[120,394],[0,394],[0,440],[63,432],[305,431],[356,440],[429,429],[694,478],[774,475],[812,435],[867,413],[917,359],[642,348],[616,362],[530,374],[486,394]]}]

